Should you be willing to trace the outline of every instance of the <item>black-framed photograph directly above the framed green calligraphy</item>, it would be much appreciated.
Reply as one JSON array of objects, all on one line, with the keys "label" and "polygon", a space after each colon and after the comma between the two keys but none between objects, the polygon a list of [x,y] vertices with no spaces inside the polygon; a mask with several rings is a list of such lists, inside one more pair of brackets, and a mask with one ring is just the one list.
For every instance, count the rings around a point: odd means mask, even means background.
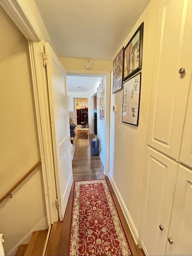
[{"label": "black-framed photograph directly above the framed green calligraphy", "polygon": [[143,25],[144,22],[141,23],[124,48],[123,81],[142,69]]}]

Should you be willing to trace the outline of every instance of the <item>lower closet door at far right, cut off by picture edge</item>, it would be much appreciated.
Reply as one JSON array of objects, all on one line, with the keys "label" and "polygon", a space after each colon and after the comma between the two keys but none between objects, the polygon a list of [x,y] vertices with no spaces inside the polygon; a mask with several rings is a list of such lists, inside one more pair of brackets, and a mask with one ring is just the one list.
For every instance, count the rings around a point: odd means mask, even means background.
[{"label": "lower closet door at far right, cut off by picture edge", "polygon": [[179,164],[166,255],[192,255],[192,170]]}]

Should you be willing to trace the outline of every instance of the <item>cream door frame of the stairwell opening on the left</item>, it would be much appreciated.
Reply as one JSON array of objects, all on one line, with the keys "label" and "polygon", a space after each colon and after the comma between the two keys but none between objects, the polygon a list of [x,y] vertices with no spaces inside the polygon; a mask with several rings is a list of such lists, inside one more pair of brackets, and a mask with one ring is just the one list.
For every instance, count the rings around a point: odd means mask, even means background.
[{"label": "cream door frame of the stairwell opening on the left", "polygon": [[48,87],[42,54],[45,50],[44,36],[26,2],[22,0],[0,0],[0,4],[29,42],[47,221],[49,225],[57,222],[59,217],[55,204],[57,192],[52,153]]}]

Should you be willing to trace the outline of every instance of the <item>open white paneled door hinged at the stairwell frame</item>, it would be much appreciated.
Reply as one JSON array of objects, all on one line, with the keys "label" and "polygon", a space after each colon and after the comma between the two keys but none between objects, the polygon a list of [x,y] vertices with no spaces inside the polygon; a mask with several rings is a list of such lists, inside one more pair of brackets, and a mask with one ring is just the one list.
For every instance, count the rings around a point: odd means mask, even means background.
[{"label": "open white paneled door hinged at the stairwell frame", "polygon": [[49,43],[45,43],[45,54],[58,209],[62,221],[73,183],[66,71]]}]

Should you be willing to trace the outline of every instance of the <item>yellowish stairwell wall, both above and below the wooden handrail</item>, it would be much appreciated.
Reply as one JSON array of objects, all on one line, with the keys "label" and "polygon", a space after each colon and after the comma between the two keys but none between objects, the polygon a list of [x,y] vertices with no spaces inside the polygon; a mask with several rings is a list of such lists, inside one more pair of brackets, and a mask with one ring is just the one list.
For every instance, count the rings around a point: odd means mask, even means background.
[{"label": "yellowish stairwell wall, both above and below the wooden handrail", "polygon": [[[1,6],[0,24],[1,198],[41,156],[28,41]],[[5,254],[40,223],[47,228],[41,165],[0,204]]]}]

